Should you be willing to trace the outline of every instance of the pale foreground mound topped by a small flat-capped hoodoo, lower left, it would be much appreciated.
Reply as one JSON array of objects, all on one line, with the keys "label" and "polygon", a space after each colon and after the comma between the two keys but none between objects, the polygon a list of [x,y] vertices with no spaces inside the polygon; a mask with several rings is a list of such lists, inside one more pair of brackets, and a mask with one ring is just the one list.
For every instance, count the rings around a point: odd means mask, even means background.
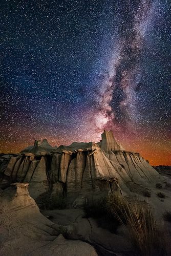
[{"label": "pale foreground mound topped by a small flat-capped hoodoo, lower left", "polygon": [[68,241],[63,230],[72,226],[54,224],[40,214],[28,193],[28,183],[14,183],[0,197],[0,255],[91,255],[95,249],[82,241]]}]

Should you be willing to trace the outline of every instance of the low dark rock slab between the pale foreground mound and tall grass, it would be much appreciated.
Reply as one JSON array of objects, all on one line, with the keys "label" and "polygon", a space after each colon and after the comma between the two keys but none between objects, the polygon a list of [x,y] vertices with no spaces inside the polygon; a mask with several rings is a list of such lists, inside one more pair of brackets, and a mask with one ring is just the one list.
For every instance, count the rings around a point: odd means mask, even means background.
[{"label": "low dark rock slab between the pale foreground mound and tall grass", "polygon": [[73,225],[71,234],[73,240],[88,241],[93,245],[99,255],[133,255],[133,246],[126,236],[125,228],[119,227],[117,232],[104,228],[102,220],[85,218],[82,209],[63,209],[43,211],[44,215],[51,215],[53,222],[60,225]]}]

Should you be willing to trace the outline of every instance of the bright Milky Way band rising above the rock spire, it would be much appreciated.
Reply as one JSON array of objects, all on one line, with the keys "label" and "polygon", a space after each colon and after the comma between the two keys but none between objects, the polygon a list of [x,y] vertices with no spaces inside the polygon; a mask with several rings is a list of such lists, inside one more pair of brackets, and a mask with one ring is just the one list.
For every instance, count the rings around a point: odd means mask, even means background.
[{"label": "bright Milky Way band rising above the rock spire", "polygon": [[126,131],[130,121],[136,119],[135,92],[141,89],[141,55],[153,9],[151,1],[117,4],[118,41],[111,49],[111,52],[115,50],[115,55],[101,81],[102,92],[98,99],[98,116],[103,124],[97,122],[100,130],[102,126],[102,129]]}]

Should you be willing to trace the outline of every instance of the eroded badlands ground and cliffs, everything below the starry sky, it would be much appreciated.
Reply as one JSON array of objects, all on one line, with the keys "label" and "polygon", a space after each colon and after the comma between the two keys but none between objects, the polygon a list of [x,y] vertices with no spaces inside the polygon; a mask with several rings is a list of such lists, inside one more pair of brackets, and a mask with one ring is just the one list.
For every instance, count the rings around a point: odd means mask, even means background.
[{"label": "eroded badlands ground and cliffs, everything below the starry sky", "polygon": [[[1,154],[0,255],[170,255],[171,176],[155,168],[112,131],[98,143],[36,140]],[[148,212],[146,234],[154,226],[162,240],[156,251],[135,246],[132,209],[145,223]]]}]

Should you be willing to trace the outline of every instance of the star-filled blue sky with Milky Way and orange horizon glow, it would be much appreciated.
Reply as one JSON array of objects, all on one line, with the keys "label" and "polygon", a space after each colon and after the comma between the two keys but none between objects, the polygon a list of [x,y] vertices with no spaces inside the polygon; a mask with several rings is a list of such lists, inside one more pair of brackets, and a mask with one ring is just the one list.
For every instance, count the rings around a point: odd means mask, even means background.
[{"label": "star-filled blue sky with Milky Way and orange horizon glow", "polygon": [[0,152],[113,130],[153,165],[170,161],[167,0],[1,1]]}]

